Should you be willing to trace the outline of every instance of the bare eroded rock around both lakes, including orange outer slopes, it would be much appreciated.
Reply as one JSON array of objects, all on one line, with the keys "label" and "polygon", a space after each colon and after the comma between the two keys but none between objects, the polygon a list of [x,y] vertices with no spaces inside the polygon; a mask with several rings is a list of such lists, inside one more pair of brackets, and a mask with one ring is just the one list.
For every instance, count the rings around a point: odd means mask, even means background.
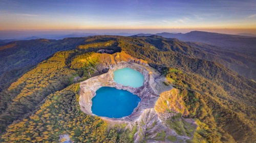
[{"label": "bare eroded rock around both lakes, including orange outer slopes", "polygon": [[[168,136],[175,136],[179,140],[189,139],[187,135],[177,134],[165,123],[167,119],[171,119],[179,112],[183,116],[188,115],[188,111],[183,106],[184,101],[179,97],[179,91],[163,83],[166,81],[165,77],[148,66],[145,61],[132,58],[124,52],[112,55],[104,53],[100,56],[103,59],[96,65],[97,70],[109,69],[109,71],[80,82],[79,104],[83,112],[94,116],[91,110],[92,98],[99,88],[114,87],[119,90],[126,90],[141,98],[141,102],[133,113],[118,119],[101,117],[102,120],[108,122],[110,126],[126,124],[126,128],[137,128],[137,132],[134,134],[135,142],[141,142],[145,139],[147,142],[170,142],[167,139]],[[126,67],[143,74],[142,87],[133,88],[114,81],[114,71]],[[194,120],[189,120],[189,122],[195,124]],[[194,126],[196,127],[196,125]],[[162,131],[165,133],[165,137],[159,139],[158,133]]]}]

